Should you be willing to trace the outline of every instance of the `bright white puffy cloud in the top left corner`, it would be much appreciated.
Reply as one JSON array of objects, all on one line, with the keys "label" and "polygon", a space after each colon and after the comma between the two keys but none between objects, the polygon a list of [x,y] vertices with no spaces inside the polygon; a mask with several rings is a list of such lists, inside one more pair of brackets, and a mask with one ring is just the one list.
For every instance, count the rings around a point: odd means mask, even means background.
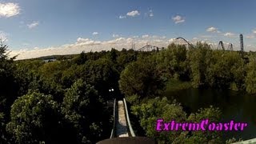
[{"label": "bright white puffy cloud in the top left corner", "polygon": [[0,3],[0,17],[12,17],[20,13],[18,3]]}]

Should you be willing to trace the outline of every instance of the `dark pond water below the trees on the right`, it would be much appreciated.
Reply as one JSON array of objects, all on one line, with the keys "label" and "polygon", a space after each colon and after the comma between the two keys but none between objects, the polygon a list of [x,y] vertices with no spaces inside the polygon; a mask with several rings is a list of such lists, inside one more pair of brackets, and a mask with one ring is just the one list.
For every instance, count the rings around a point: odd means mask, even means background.
[{"label": "dark pond water below the trees on the right", "polygon": [[197,112],[198,109],[218,106],[222,110],[222,122],[247,122],[243,131],[224,132],[223,138],[256,138],[256,95],[242,94],[232,90],[199,90],[188,89],[166,92],[167,98],[175,98],[182,103],[186,112]]}]

